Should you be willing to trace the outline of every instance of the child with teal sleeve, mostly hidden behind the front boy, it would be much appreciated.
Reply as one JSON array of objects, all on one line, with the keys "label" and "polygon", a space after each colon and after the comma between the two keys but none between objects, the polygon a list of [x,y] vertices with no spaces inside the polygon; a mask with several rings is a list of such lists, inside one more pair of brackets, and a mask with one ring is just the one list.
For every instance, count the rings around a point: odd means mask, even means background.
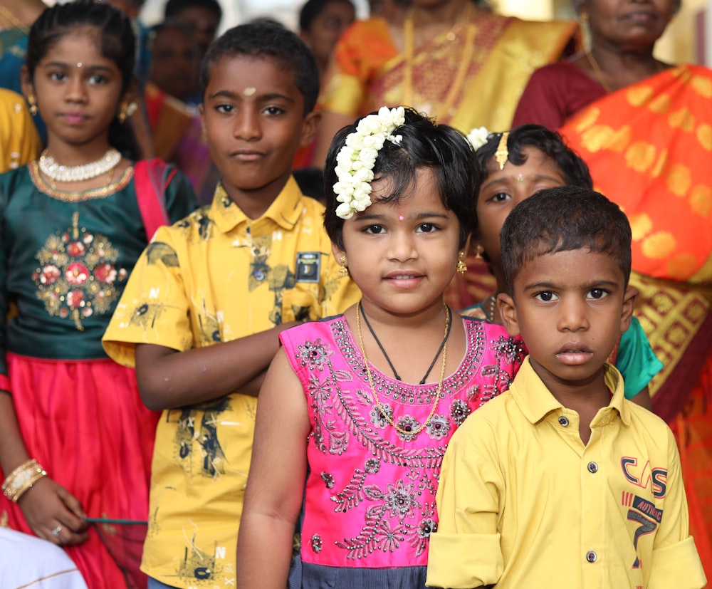
[{"label": "child with teal sleeve, mostly hidden behind the front boy", "polygon": [[[540,125],[521,125],[509,132],[491,134],[478,147],[476,157],[485,177],[476,191],[475,250],[487,262],[497,287],[484,301],[460,313],[502,323],[496,308],[497,293],[506,290],[499,233],[508,214],[537,190],[564,184],[592,189],[593,182],[585,162],[561,136]],[[661,370],[662,363],[651,350],[637,318],[632,318],[630,328],[621,335],[611,361],[623,375],[626,397],[651,409],[648,382]]]}]

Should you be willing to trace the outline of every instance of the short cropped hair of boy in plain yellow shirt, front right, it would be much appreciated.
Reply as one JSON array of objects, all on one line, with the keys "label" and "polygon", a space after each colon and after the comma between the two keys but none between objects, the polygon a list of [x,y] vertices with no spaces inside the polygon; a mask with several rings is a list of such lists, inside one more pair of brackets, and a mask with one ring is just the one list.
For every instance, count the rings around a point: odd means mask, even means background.
[{"label": "short cropped hair of boy in plain yellow shirt, front right", "polygon": [[631,265],[628,218],[603,194],[577,186],[536,192],[520,202],[499,234],[507,292],[524,264],[539,256],[586,248],[614,257],[627,285]]}]

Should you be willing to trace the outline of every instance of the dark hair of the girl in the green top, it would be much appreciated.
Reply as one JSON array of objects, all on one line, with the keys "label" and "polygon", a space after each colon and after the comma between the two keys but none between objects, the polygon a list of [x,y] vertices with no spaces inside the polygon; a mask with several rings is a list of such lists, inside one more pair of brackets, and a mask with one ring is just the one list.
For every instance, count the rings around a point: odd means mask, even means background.
[{"label": "dark hair of the girl in the green top", "polygon": [[[30,28],[26,68],[33,82],[38,63],[65,36],[78,28],[95,28],[102,55],[113,61],[121,73],[121,91],[125,93],[134,80],[136,36],[131,20],[122,11],[105,2],[75,0],[46,9]],[[117,105],[118,106],[118,105]],[[109,127],[109,142],[117,150],[137,159],[139,150],[130,125],[117,119]]]}]

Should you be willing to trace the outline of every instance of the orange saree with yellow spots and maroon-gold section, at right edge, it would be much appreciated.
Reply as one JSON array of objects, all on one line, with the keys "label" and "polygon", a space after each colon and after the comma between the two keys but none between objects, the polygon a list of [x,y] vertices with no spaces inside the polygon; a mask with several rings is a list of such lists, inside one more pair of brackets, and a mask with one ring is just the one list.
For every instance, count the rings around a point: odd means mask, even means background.
[{"label": "orange saree with yellow spots and maroon-gold section, at right edge", "polygon": [[679,443],[712,577],[712,70],[682,65],[606,95],[560,129],[633,230],[637,316],[665,368],[653,406]]}]

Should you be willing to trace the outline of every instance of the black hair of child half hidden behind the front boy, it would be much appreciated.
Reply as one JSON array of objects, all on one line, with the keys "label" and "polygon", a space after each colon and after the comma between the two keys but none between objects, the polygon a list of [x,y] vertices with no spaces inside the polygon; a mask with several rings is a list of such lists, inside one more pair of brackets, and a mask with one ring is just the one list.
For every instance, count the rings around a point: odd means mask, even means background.
[{"label": "black hair of child half hidden behind the front boy", "polygon": [[[501,133],[492,133],[487,142],[477,150],[477,161],[484,170],[482,182],[487,179],[487,164],[494,156],[502,138]],[[535,147],[544,155],[550,157],[561,172],[566,184],[572,184],[589,190],[593,189],[593,180],[586,162],[572,150],[564,138],[556,131],[542,125],[520,125],[514,127],[507,137],[508,161],[515,166],[526,162],[524,147]],[[479,192],[480,187],[477,187]]]}]

